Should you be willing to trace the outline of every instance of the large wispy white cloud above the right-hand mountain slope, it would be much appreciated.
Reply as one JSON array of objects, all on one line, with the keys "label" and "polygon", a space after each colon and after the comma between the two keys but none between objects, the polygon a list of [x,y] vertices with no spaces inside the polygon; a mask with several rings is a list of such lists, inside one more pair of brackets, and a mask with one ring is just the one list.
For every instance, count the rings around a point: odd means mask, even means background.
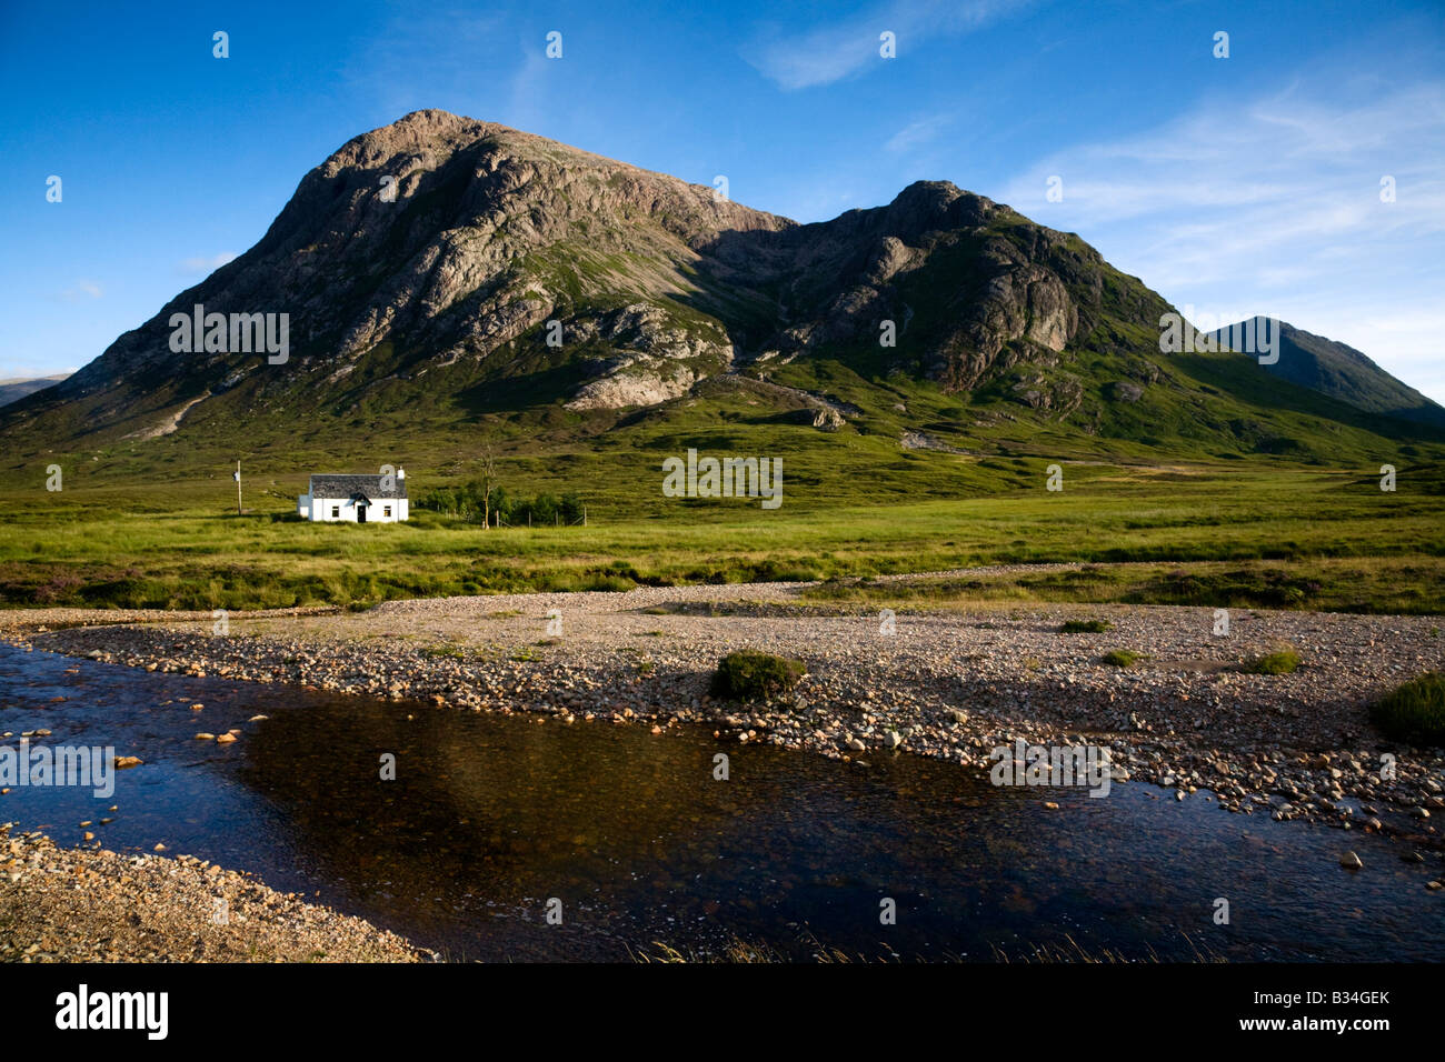
[{"label": "large wispy white cloud above the right-hand mountain slope", "polygon": [[1040,159],[1001,198],[1178,306],[1282,318],[1445,400],[1445,311],[1422,312],[1445,290],[1445,81],[1212,101]]}]

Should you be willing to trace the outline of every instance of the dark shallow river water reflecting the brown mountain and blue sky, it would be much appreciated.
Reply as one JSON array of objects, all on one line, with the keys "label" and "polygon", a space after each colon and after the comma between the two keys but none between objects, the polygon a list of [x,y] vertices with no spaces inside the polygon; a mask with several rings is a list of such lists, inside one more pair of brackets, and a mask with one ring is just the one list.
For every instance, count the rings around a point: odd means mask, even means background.
[{"label": "dark shallow river water reflecting the brown mountain and blue sky", "polygon": [[[146,760],[118,777],[107,847],[159,841],[254,870],[452,958],[708,951],[734,935],[799,957],[815,936],[903,958],[1068,941],[1127,957],[1445,958],[1428,870],[1397,845],[1147,786],[996,789],[907,756],[860,767],[699,731],[539,725],[9,649],[0,704],[16,735],[45,727]],[[236,744],[194,740],[233,727]],[[55,789],[13,790],[0,815],[59,842],[98,818],[88,793]],[[1337,865],[1342,847],[1366,871]],[[1220,896],[1230,926],[1212,922]]]}]

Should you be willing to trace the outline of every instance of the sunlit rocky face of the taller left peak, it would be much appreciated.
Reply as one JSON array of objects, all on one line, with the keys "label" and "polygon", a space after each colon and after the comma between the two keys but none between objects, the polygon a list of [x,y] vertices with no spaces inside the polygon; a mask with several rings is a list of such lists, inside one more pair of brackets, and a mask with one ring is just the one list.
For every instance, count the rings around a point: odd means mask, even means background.
[{"label": "sunlit rocky face of the taller left peak", "polygon": [[[273,387],[295,386],[298,374],[340,386],[383,347],[413,371],[484,360],[559,319],[564,348],[610,347],[613,371],[656,370],[675,393],[670,381],[731,358],[724,334],[679,328],[663,309],[694,288],[696,249],[789,224],[717,201],[709,188],[418,111],[344,144],[305,176],[256,247],[120,337],[62,393],[91,396],[140,374],[162,390],[171,379],[218,393],[266,370],[236,353],[172,353],[168,321],[197,303],[289,315],[293,358],[290,371],[270,374]],[[620,314],[617,303],[630,305]],[[595,402],[607,392],[588,393]]]}]

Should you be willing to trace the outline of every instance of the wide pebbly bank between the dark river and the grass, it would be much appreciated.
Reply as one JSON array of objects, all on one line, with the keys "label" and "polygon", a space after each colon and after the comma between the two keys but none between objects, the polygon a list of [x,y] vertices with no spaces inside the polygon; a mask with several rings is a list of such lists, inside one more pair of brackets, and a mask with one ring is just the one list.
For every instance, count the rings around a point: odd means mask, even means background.
[{"label": "wide pebbly bank between the dark river and the grass", "polygon": [[[702,722],[721,741],[863,761],[906,751],[987,769],[993,748],[1019,738],[1097,744],[1116,782],[1441,847],[1445,757],[1396,747],[1367,718],[1374,698],[1445,668],[1433,617],[1235,610],[1227,637],[1214,634],[1212,610],[1186,607],[985,607],[889,623],[805,604],[805,585],[234,613],[224,634],[205,614],[12,611],[0,637],[147,670],[536,712],[539,722],[603,718],[659,735]],[[1059,633],[1085,616],[1111,629]],[[1296,672],[1238,669],[1280,643],[1299,650]],[[809,675],[769,705],[709,698],[717,660],[741,647],[796,656]],[[1111,668],[1100,657],[1113,649],[1143,659]]]}]

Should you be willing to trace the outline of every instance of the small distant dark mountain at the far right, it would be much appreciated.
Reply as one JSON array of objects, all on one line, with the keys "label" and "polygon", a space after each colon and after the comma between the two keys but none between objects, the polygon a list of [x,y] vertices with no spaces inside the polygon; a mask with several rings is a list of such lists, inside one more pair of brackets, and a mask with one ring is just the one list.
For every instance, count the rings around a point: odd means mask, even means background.
[{"label": "small distant dark mountain at the far right", "polygon": [[[1231,328],[1221,328],[1211,335],[1218,342],[1228,342],[1231,331],[1234,335],[1244,335],[1246,328],[1260,327],[1263,318],[1254,318]],[[1384,413],[1445,428],[1445,407],[1396,380],[1354,347],[1314,335],[1283,321],[1279,322],[1279,360],[1261,366],[1273,376],[1340,399],[1367,413]]]}]

